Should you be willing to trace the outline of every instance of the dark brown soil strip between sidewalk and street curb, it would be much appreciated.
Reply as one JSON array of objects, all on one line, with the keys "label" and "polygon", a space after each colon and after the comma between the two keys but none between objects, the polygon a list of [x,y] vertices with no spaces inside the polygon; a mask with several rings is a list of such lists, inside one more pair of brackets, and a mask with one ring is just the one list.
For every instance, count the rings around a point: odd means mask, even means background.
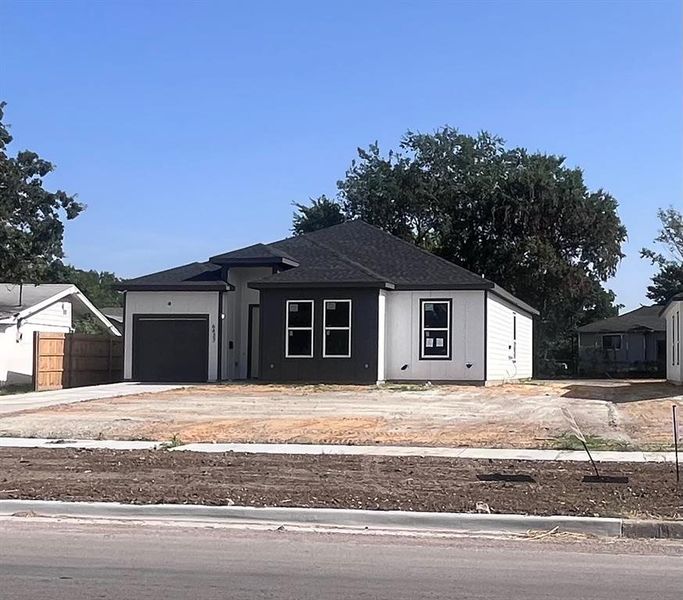
[{"label": "dark brown soil strip between sidewalk and street curb", "polygon": [[602,468],[628,483],[583,483],[585,463],[3,448],[0,499],[681,518],[673,465]]}]

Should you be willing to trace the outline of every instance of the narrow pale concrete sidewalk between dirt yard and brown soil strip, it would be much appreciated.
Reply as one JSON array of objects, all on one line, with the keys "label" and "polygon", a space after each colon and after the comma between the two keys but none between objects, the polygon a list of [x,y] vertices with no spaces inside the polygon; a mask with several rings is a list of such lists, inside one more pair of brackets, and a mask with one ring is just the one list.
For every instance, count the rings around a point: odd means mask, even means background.
[{"label": "narrow pale concrete sidewalk between dirt yard and brown soil strip", "polygon": [[[337,456],[429,456],[533,461],[588,461],[581,450],[524,450],[518,448],[432,448],[411,446],[345,446],[319,444],[181,444],[123,440],[54,440],[45,438],[0,438],[2,448],[83,448],[100,450],[155,450],[166,448],[182,452],[245,452],[250,454],[314,454]],[[596,450],[600,462],[674,462],[673,452],[612,452]]]}]

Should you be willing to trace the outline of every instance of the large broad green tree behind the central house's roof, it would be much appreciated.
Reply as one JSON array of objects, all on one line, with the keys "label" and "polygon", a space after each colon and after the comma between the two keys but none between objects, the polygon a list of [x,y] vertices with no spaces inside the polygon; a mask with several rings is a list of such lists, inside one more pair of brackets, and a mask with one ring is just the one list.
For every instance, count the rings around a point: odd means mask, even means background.
[{"label": "large broad green tree behind the central house's roof", "polygon": [[[617,313],[602,286],[623,256],[617,202],[589,190],[561,156],[445,127],[408,132],[396,152],[359,149],[337,186],[346,219],[360,217],[537,307],[544,358],[570,357],[577,326]],[[297,231],[306,221],[300,210]]]}]

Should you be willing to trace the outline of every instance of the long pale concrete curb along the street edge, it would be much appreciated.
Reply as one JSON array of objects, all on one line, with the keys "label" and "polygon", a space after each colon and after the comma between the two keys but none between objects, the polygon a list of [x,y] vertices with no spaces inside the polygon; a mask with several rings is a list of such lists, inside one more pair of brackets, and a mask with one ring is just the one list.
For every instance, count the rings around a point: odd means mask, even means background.
[{"label": "long pale concrete curb along the street edge", "polygon": [[[529,531],[580,533],[621,537],[622,519],[591,517],[537,517],[470,513],[372,511],[328,508],[256,508],[173,504],[118,504],[0,500],[0,516],[35,515],[84,519],[185,521],[232,525],[334,527],[361,530],[403,530],[469,534],[525,534]],[[633,533],[636,533],[633,530]],[[643,530],[642,536],[646,537]],[[635,537],[635,536],[633,536]]]}]

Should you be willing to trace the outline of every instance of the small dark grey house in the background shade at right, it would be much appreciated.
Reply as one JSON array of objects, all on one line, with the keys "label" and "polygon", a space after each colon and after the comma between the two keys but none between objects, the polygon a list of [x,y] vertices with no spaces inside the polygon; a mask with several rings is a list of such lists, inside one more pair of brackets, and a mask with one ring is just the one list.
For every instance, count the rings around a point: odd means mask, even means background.
[{"label": "small dark grey house in the background shade at right", "polygon": [[579,375],[659,375],[665,372],[666,328],[658,305],[579,327]]}]

